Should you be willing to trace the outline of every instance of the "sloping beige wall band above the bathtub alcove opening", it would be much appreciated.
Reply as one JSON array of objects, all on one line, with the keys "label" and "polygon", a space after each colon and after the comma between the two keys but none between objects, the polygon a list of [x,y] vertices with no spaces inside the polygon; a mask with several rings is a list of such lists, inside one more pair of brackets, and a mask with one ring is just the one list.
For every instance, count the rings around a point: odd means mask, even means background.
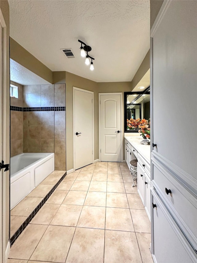
[{"label": "sloping beige wall band above the bathtub alcove opening", "polygon": [[10,58],[44,80],[53,82],[53,72],[10,37]]}]

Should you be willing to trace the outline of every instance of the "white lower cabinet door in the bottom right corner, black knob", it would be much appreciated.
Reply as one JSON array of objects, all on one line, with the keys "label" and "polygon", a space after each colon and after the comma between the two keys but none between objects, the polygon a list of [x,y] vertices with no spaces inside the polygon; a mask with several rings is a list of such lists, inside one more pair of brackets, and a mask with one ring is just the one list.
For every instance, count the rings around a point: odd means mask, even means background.
[{"label": "white lower cabinet door in the bottom right corner, black knob", "polygon": [[[154,191],[154,190],[153,190]],[[153,193],[153,254],[158,263],[196,262],[187,239],[156,193]]]}]

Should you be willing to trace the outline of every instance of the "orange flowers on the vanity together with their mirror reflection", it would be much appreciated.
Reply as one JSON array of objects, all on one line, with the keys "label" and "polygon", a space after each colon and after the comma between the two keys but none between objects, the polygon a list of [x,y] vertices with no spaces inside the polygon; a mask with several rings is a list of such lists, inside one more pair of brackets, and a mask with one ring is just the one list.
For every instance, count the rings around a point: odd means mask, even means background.
[{"label": "orange flowers on the vanity together with their mirror reflection", "polygon": [[138,132],[142,134],[144,139],[150,139],[150,119],[149,120],[134,120],[134,119],[127,119],[127,129],[139,129]]}]

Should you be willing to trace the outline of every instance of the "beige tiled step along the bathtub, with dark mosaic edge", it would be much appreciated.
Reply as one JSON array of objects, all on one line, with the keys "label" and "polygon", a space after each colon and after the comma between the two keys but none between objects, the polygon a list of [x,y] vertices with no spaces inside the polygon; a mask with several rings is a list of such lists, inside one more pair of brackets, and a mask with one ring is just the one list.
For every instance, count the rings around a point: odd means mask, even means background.
[{"label": "beige tiled step along the bathtub, with dark mosaic edge", "polygon": [[[66,171],[53,171],[18,205],[10,211],[10,245],[21,235],[40,208],[50,199],[51,194],[66,176]],[[50,184],[45,182],[50,181]],[[66,196],[66,195],[65,195]]]}]

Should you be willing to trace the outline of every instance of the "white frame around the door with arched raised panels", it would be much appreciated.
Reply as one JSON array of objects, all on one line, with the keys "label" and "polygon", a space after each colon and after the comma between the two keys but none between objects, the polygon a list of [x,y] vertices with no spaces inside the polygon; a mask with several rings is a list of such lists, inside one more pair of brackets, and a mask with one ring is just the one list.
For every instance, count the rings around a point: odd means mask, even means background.
[{"label": "white frame around the door with arched raised panels", "polygon": [[120,138],[121,138],[121,162],[123,162],[123,92],[107,92],[107,93],[98,93],[98,136],[99,136],[99,162],[101,162],[101,96],[102,95],[120,95]]}]

